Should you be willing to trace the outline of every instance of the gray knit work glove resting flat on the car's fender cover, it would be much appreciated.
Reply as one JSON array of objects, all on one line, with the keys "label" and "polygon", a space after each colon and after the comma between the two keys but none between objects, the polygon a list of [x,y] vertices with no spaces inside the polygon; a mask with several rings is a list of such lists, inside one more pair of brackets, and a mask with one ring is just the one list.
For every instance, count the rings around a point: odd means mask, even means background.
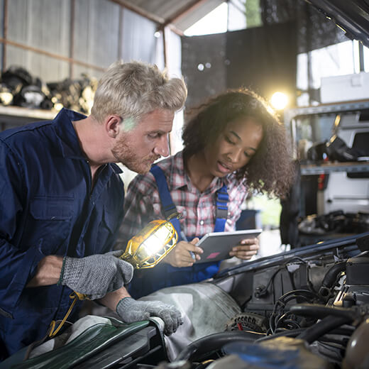
[{"label": "gray knit work glove resting flat on the car's fender cover", "polygon": [[164,333],[167,336],[177,331],[177,328],[183,324],[180,311],[160,301],[136,301],[132,297],[124,297],[116,305],[116,312],[126,323],[158,316],[164,321]]}]

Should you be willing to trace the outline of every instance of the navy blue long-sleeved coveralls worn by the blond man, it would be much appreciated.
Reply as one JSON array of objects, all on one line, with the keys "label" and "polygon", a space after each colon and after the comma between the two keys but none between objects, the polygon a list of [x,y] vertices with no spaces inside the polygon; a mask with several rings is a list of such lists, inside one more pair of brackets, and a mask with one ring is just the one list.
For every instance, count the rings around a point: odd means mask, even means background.
[{"label": "navy blue long-sleeved coveralls worn by the blond man", "polygon": [[121,170],[104,165],[92,188],[72,126],[84,118],[62,109],[53,121],[0,133],[0,359],[43,338],[70,307],[68,287],[26,288],[42,258],[81,258],[114,246],[123,218]]}]

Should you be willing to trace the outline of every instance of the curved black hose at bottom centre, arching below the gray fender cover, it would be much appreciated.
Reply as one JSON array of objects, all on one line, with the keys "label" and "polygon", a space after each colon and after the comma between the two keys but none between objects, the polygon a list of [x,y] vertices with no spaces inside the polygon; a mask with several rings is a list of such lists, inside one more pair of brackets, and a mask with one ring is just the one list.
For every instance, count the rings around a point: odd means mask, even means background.
[{"label": "curved black hose at bottom centre, arching below the gray fender cover", "polygon": [[249,331],[226,331],[211,334],[189,343],[189,345],[179,353],[177,358],[175,358],[175,361],[196,361],[197,358],[201,358],[206,353],[220,350],[226,343],[234,341],[254,343],[257,338],[260,338],[260,333]]}]

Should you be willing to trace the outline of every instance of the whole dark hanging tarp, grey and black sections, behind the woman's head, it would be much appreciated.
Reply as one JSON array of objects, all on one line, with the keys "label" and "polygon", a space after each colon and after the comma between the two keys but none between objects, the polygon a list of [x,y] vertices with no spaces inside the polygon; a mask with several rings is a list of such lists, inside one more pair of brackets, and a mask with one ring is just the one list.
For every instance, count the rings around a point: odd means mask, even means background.
[{"label": "whole dark hanging tarp, grey and black sections, behind the woman's head", "polygon": [[269,98],[296,86],[294,23],[182,39],[182,73],[194,106],[227,88],[249,87]]}]

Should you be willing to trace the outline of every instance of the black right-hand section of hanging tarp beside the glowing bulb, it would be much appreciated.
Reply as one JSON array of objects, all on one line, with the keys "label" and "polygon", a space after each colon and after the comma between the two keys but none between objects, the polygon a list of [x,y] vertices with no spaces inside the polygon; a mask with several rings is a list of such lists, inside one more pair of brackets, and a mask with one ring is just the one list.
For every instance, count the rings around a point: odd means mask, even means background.
[{"label": "black right-hand section of hanging tarp beside the glowing bulb", "polygon": [[227,87],[250,87],[269,99],[276,91],[294,96],[296,32],[294,23],[227,33]]}]

